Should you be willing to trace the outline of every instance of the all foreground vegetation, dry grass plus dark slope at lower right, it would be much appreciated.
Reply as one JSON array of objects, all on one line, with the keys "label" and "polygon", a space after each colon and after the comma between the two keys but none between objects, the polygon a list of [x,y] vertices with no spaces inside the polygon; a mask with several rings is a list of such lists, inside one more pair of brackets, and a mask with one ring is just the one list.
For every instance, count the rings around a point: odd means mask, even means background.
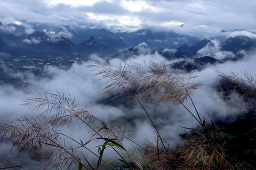
[{"label": "all foreground vegetation, dry grass plus dark slope at lower right", "polygon": [[[242,78],[234,73],[226,75],[215,70],[221,78],[217,88],[220,97],[234,113],[239,114],[237,121],[230,124],[225,120],[214,122],[211,115],[210,122],[205,123],[202,120],[190,94],[191,90],[203,85],[194,83],[196,77],[193,72],[169,72],[164,63],[152,63],[147,70],[136,64],[113,67],[108,62],[101,64],[96,61],[89,67],[98,69],[97,75],[108,81],[107,87],[101,91],[102,94],[114,95],[118,100],[138,101],[156,131],[154,142],[146,140],[137,143],[131,140],[125,133],[125,127],[100,120],[95,117],[94,112],[78,107],[74,99],[58,93],[27,99],[23,105],[32,110],[42,109],[42,114],[33,119],[20,117],[4,124],[1,136],[10,139],[17,152],[36,150],[44,160],[45,168],[71,168],[75,164],[79,169],[115,169],[117,162],[127,169],[256,167],[256,83],[249,73],[242,73]],[[231,97],[232,94],[236,94],[236,97]],[[170,102],[181,105],[187,110],[185,114],[190,114],[198,122],[198,126],[194,129],[182,127],[185,133],[180,134],[181,143],[171,146],[170,141],[162,138],[147,108],[142,105],[142,100],[154,104]],[[193,104],[193,111],[188,109],[187,102]],[[55,109],[58,109],[57,113],[53,113]],[[90,129],[91,139],[76,140],[58,131],[62,126],[71,123],[83,124]],[[125,147],[124,140],[132,142],[133,147]],[[96,141],[101,141],[101,145],[97,146],[98,153],[87,147],[89,143]],[[97,163],[90,162],[83,154],[78,156],[76,151],[82,148],[97,158]],[[106,160],[104,155],[107,148],[113,149],[119,159]]]}]

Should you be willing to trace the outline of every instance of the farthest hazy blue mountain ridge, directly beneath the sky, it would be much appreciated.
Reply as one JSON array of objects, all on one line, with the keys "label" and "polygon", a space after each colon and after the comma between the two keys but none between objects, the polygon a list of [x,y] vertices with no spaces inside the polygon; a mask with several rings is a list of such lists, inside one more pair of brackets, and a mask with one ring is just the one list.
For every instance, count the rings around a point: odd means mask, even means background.
[{"label": "farthest hazy blue mountain ridge, directly beneath the sky", "polygon": [[[141,43],[147,43],[151,49],[178,48],[182,44],[194,45],[200,40],[197,37],[180,35],[173,31],[153,31],[151,29],[140,29],[134,32],[112,32],[104,28],[71,27],[69,25],[50,26],[47,24],[35,24],[35,31],[46,31],[50,37],[68,36],[74,44],[80,44],[84,37],[94,36],[97,42],[105,43],[113,48],[131,48]],[[123,43],[121,43],[120,38]],[[114,39],[112,43],[111,39]],[[122,46],[117,41],[120,41]],[[125,46],[124,46],[125,45]]]}]

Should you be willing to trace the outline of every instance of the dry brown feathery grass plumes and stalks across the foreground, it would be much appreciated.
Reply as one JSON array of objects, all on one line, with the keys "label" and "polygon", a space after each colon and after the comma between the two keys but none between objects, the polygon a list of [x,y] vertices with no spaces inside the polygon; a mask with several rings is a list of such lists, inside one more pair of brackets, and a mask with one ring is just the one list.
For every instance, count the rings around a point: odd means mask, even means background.
[{"label": "dry brown feathery grass plumes and stalks across the foreground", "polygon": [[[94,61],[89,67],[100,69],[97,75],[101,75],[101,79],[107,79],[109,85],[102,89],[100,94],[115,95],[116,98],[123,100],[129,100],[131,97],[138,100],[157,132],[155,143],[150,141],[136,143],[130,140],[125,135],[125,126],[101,121],[95,117],[95,112],[88,112],[86,108],[78,107],[75,99],[64,94],[60,95],[58,92],[27,99],[23,105],[33,111],[42,110],[42,114],[36,118],[20,117],[18,120],[7,122],[2,126],[0,134],[9,138],[18,152],[36,150],[46,160],[45,167],[71,168],[74,163],[79,163],[84,169],[102,169],[106,166],[114,169],[110,166],[110,162],[102,159],[105,149],[111,147],[119,155],[122,164],[130,166],[129,160],[131,160],[141,170],[146,168],[239,169],[238,162],[227,155],[225,140],[222,140],[214,123],[212,122],[211,128],[207,128],[197,112],[190,93],[191,89],[196,89],[200,84],[194,83],[196,77],[193,76],[193,72],[185,74],[180,70],[170,71],[165,63],[159,65],[151,63],[149,67],[142,68],[138,64],[111,66],[108,62],[107,65],[103,65]],[[250,74],[245,72],[244,76],[247,79],[244,80],[236,74],[228,76],[220,71],[217,73],[221,78],[228,80],[248,106],[252,109],[256,108],[254,100],[256,90],[254,79]],[[185,106],[185,101],[188,99],[193,103],[196,114]],[[155,104],[171,102],[174,105],[182,105],[197,120],[198,125],[202,126],[203,131],[193,137],[188,134],[189,139],[185,140],[183,145],[172,148],[161,138],[154,121],[140,100],[153,101]],[[229,103],[229,107],[235,108],[232,103]],[[58,131],[62,126],[73,123],[88,128],[91,131],[91,139],[76,141]],[[61,138],[63,140],[60,140]],[[125,148],[122,145],[124,139],[133,142],[135,147],[132,150]],[[102,145],[98,147],[98,154],[86,147],[88,143],[96,140],[102,141]],[[74,147],[73,143],[78,147]],[[98,159],[97,165],[89,163],[85,156],[77,157],[78,148],[90,151],[92,156]],[[136,152],[140,153],[141,159],[135,154]],[[145,166],[142,166],[141,160]],[[239,166],[242,169],[242,164]],[[132,166],[130,168],[133,169]]]}]

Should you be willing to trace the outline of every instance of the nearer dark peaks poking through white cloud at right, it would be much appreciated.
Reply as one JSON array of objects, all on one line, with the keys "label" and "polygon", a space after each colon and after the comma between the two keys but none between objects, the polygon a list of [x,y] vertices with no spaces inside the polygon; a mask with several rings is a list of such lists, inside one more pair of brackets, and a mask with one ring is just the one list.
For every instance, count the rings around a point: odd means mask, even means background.
[{"label": "nearer dark peaks poking through white cloud at right", "polygon": [[222,60],[217,60],[211,56],[200,56],[197,52],[206,47],[214,46],[213,41],[208,39],[203,39],[197,44],[189,46],[183,44],[176,49],[164,49],[164,50],[151,50],[147,45],[141,44],[137,47],[132,47],[128,50],[120,52],[113,56],[113,58],[121,58],[125,60],[132,56],[138,56],[140,54],[155,54],[156,52],[167,60],[179,59],[179,62],[174,62],[169,66],[172,69],[180,69],[184,71],[193,71],[193,70],[203,70],[206,65],[214,65],[218,63],[223,63],[226,61],[237,61],[241,60],[244,57],[241,51],[250,52],[250,50],[256,49],[256,39],[252,39],[247,36],[235,36],[230,37],[220,44],[220,49],[222,51],[231,52],[235,57],[226,57]]}]

